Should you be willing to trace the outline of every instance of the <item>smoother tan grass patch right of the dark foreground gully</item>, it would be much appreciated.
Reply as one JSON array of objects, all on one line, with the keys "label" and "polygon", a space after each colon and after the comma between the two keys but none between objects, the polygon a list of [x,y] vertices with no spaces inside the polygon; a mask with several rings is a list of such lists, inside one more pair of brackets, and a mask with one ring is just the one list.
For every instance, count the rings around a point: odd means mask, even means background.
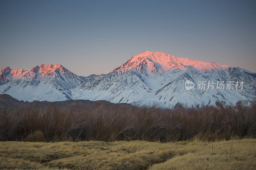
[{"label": "smoother tan grass patch right of the dark foreground gully", "polygon": [[176,156],[149,169],[255,169],[256,140],[208,143],[197,152]]}]

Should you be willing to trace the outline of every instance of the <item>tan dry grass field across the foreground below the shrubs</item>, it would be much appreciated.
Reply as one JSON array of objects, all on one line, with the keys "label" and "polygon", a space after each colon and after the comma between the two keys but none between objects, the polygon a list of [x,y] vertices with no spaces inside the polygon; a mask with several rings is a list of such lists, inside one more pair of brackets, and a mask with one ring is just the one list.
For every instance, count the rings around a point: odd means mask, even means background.
[{"label": "tan dry grass field across the foreground below the shrubs", "polygon": [[0,142],[0,168],[255,169],[256,139],[219,142]]}]

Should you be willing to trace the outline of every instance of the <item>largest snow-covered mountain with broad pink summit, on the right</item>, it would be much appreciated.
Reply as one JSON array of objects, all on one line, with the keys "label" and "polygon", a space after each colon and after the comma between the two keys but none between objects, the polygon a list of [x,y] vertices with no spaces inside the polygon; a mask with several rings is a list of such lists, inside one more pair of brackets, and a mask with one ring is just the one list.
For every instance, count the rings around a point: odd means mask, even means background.
[{"label": "largest snow-covered mountain with broad pink summit, on the right", "polygon": [[[185,81],[214,82],[214,89],[185,89]],[[224,81],[242,82],[243,89],[217,89]],[[133,56],[122,66],[104,76],[85,81],[72,91],[72,99],[107,100],[112,103],[149,105],[159,103],[164,107],[185,103],[196,106],[214,104],[225,100],[236,104],[238,100],[256,97],[256,74],[239,67],[214,62],[175,57],[160,52],[145,51]],[[241,83],[240,83],[241,85]],[[210,86],[211,87],[211,86]]]}]

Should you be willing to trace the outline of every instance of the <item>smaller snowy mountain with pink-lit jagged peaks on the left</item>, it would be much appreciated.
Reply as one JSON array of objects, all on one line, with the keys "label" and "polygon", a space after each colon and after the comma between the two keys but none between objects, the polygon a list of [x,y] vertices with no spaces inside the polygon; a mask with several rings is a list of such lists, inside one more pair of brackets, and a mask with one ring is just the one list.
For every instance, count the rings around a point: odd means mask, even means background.
[{"label": "smaller snowy mountain with pink-lit jagged peaks on the left", "polygon": [[60,64],[42,64],[30,70],[5,67],[1,70],[0,94],[9,94],[24,101],[64,101],[70,99],[70,89],[83,81]]}]

